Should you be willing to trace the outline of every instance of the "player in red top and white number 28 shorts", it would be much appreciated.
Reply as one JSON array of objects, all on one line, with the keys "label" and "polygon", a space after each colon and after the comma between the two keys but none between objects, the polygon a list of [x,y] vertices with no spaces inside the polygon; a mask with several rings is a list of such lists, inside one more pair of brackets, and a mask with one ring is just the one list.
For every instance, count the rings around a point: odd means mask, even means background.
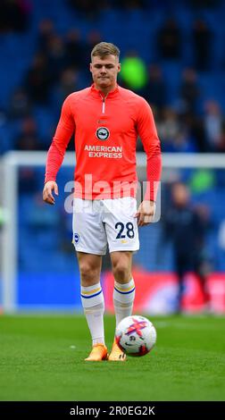
[{"label": "player in red top and white number 28 shorts", "polygon": [[[113,342],[110,356],[104,344],[104,296],[100,284],[102,256],[108,245],[114,275],[116,324],[132,313],[135,283],[132,253],[139,248],[137,226],[151,222],[161,175],[161,149],[154,117],[145,99],[117,85],[121,70],[117,46],[101,42],[91,53],[90,88],[72,93],[63,103],[49,148],[43,199],[54,205],[56,174],[75,132],[76,170],[73,243],[77,251],[81,301],[92,337],[87,361],[124,361]],[[137,210],[136,141],[147,155],[146,197]]]}]

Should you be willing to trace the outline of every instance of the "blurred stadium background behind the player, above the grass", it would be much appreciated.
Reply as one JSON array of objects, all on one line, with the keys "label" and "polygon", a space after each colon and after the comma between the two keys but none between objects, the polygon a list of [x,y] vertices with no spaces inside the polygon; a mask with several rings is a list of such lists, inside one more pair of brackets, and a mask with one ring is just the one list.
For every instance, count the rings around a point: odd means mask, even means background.
[{"label": "blurred stadium background behind the player, above the grass", "polygon": [[[53,4],[54,3],[54,4]],[[64,191],[74,145],[58,175],[54,207],[42,201],[46,150],[64,97],[87,87],[101,40],[121,49],[120,84],[146,97],[162,140],[162,217],[140,230],[135,255],[138,312],[172,313],[177,277],[163,214],[171,184],[184,182],[206,214],[204,261],[210,309],[225,312],[225,2],[222,0],[2,0],[0,4],[0,307],[80,310],[79,270]],[[140,180],[145,155],[137,143]],[[185,242],[185,238],[184,238]],[[187,247],[188,252],[188,247]],[[112,310],[109,257],[102,282]],[[204,310],[195,273],[183,308]]]}]

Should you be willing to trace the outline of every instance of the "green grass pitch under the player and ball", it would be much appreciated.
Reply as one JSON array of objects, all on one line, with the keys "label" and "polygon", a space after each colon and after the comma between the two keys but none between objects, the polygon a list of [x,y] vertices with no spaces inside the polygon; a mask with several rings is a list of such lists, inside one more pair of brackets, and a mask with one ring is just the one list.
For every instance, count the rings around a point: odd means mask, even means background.
[{"label": "green grass pitch under the player and ball", "polygon": [[[83,316],[0,316],[0,400],[225,399],[225,318],[151,317],[157,343],[126,363],[85,363]],[[114,319],[105,317],[111,347]]]}]

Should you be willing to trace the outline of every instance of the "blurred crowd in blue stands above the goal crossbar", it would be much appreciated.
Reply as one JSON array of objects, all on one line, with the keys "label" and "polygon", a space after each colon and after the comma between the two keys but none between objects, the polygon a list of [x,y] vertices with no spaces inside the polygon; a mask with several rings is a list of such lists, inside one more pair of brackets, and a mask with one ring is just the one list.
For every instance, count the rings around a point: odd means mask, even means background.
[{"label": "blurred crowd in blue stands above the goal crossbar", "polygon": [[[166,0],[67,1],[71,10],[76,10],[87,20],[95,20],[104,9],[113,7],[145,10],[165,3]],[[197,8],[216,7],[220,2],[195,0],[188,3]],[[32,13],[29,0],[2,0],[0,12],[0,32],[26,33],[29,14]],[[154,62],[146,62],[137,50],[121,51],[119,83],[145,97],[152,106],[163,152],[225,152],[221,105],[213,98],[203,99],[198,83],[200,74],[211,71],[213,31],[202,18],[193,21],[190,30],[194,60],[181,71],[179,93],[172,102],[168,97],[168,79],[161,65],[162,62],[179,62],[182,55],[182,29],[172,16],[155,33]],[[36,52],[24,80],[14,90],[7,109],[0,112],[0,119],[20,122],[20,130],[12,141],[14,149],[46,150],[49,147],[63,99],[91,83],[88,71],[90,52],[102,40],[98,30],[91,30],[84,38],[79,28],[73,28],[62,36],[55,29],[54,21],[43,19],[39,22]],[[40,133],[37,123],[38,109],[44,113],[45,109],[50,110],[53,115],[44,134]],[[137,150],[142,150],[141,142],[137,143]]]}]

